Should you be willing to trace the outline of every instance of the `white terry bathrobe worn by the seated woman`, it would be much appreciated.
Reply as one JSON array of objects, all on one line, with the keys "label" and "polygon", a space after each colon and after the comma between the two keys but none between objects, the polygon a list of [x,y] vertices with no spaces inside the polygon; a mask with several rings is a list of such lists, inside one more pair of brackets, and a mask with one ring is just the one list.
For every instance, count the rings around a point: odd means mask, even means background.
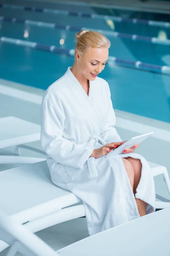
[{"label": "white terry bathrobe worn by the seated woman", "polygon": [[[139,154],[90,157],[95,148],[122,141],[108,83],[90,81],[89,95],[68,67],[42,100],[41,143],[51,180],[82,199],[89,235],[139,218],[136,198],[155,211],[155,187],[147,161]],[[141,160],[142,175],[134,196],[122,157]]]}]

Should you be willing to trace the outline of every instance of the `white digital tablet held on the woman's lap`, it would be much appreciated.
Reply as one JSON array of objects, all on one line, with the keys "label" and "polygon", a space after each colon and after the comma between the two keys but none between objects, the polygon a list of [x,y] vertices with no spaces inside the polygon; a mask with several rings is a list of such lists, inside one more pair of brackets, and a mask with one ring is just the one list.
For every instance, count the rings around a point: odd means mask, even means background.
[{"label": "white digital tablet held on the woman's lap", "polygon": [[[127,148],[133,148],[133,145],[141,143],[143,140],[147,139],[150,135],[154,134],[154,132],[150,132],[147,134],[142,134],[136,137],[131,138],[130,140],[127,140],[125,143],[120,145],[118,148],[113,149],[111,152],[106,154],[108,157],[113,156],[116,154],[122,154],[122,152]],[[105,156],[106,156],[105,155]]]}]

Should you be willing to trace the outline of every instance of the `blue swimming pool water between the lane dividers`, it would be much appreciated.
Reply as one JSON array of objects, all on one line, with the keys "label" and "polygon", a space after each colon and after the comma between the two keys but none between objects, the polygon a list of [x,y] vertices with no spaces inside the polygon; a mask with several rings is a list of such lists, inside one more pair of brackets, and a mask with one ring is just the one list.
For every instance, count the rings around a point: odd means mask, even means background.
[{"label": "blue swimming pool water between the lane dividers", "polygon": [[[24,2],[25,6],[32,3]],[[21,4],[18,1],[18,4]],[[23,2],[22,2],[23,5]],[[45,3],[36,3],[38,8],[44,8]],[[16,38],[22,41],[33,41],[42,45],[55,45],[61,49],[74,49],[74,35],[77,28],[102,29],[107,32],[116,31],[126,34],[124,37],[107,35],[111,41],[110,55],[127,61],[142,61],[158,66],[170,65],[170,44],[153,44],[147,38],[170,38],[170,29],[167,26],[149,26],[146,22],[116,22],[109,17],[77,17],[75,12],[99,15],[106,14],[104,9],[95,9],[90,6],[65,4],[51,4],[50,8],[60,10],[57,14],[50,12],[31,12],[18,8],[0,8],[0,16],[20,19],[20,23],[11,23],[10,20],[0,23],[0,36]],[[61,10],[69,10],[72,15],[65,15]],[[111,15],[117,16],[111,12]],[[144,17],[124,12],[124,17]],[[163,18],[163,16],[162,16]],[[38,20],[46,26],[25,24],[22,20]],[[110,20],[110,21],[108,21]],[[160,21],[160,20],[159,20]],[[166,18],[162,21],[167,21]],[[47,23],[55,23],[54,29]],[[168,24],[168,23],[167,23]],[[67,30],[63,26],[74,26]],[[75,28],[76,27],[76,28]],[[140,35],[147,38],[132,40],[128,35]],[[24,37],[25,36],[25,37]],[[28,36],[28,37],[27,37]],[[59,44],[64,39],[63,45]],[[142,39],[142,38],[141,38]],[[168,41],[167,41],[168,43]],[[54,54],[49,51],[38,51],[16,44],[0,43],[0,78],[16,81],[32,87],[46,89],[52,82],[62,76],[68,66],[72,66],[74,58],[65,54]],[[168,74],[139,70],[135,66],[116,66],[108,64],[100,76],[106,79],[111,88],[113,107],[122,111],[135,113],[141,116],[170,122],[170,76]]]}]

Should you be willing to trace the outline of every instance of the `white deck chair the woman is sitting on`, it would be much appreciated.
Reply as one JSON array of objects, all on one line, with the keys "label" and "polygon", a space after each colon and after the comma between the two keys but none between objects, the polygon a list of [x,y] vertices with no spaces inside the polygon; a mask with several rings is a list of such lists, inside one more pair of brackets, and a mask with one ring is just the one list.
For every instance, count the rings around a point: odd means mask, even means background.
[{"label": "white deck chair the woman is sitting on", "polygon": [[[170,193],[167,169],[153,163],[150,166],[154,176],[164,175]],[[161,200],[156,202],[157,209],[170,207],[169,200]],[[46,161],[0,172],[0,209],[33,233],[85,216],[81,199],[51,182]],[[8,244],[0,241],[0,251],[6,247]]]}]

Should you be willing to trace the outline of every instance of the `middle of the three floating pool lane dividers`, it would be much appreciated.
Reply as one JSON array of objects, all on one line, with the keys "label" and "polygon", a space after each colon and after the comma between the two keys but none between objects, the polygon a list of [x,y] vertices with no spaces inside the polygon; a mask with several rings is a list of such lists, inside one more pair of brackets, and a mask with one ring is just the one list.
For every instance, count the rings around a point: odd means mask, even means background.
[{"label": "middle of the three floating pool lane dividers", "polygon": [[127,39],[131,39],[133,41],[145,41],[145,42],[148,42],[151,44],[170,45],[169,39],[161,40],[156,37],[119,33],[116,31],[108,31],[108,30],[102,30],[102,29],[91,29],[91,28],[76,27],[76,26],[70,26],[70,25],[60,25],[60,24],[56,24],[56,23],[42,22],[42,21],[36,21],[36,20],[22,20],[22,19],[17,19],[17,18],[6,18],[3,16],[0,16],[0,22],[2,22],[2,21],[11,22],[11,23],[23,23],[26,25],[40,26],[40,27],[46,27],[46,28],[51,28],[51,29],[65,29],[65,30],[76,31],[76,32],[79,32],[82,29],[87,29],[87,30],[93,30],[93,31],[100,32],[106,36],[113,36],[114,38],[127,38]]}]

